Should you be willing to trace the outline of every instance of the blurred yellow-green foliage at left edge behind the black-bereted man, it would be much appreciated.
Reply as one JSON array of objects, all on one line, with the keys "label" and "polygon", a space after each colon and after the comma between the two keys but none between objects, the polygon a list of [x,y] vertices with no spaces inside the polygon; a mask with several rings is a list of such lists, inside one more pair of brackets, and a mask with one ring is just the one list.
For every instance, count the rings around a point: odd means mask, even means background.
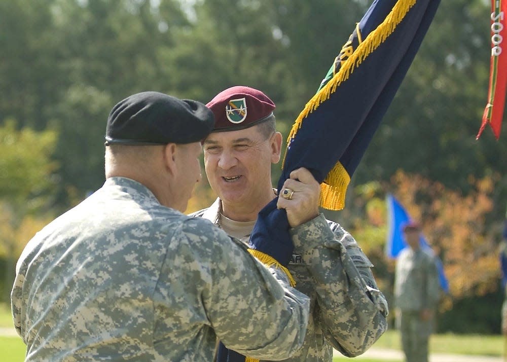
[{"label": "blurred yellow-green foliage at left edge behind the black-bereted man", "polygon": [[27,215],[51,204],[57,167],[51,160],[55,144],[54,131],[16,130],[14,121],[0,127],[0,249],[7,260],[3,298],[10,292],[21,242],[14,236],[19,235]]}]

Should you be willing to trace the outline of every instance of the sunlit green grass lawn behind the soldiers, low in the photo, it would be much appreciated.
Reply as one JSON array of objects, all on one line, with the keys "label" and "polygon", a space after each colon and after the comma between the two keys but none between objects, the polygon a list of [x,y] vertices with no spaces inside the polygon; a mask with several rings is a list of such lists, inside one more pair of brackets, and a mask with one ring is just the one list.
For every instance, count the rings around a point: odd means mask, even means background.
[{"label": "sunlit green grass lawn behind the soldiers, low in the photo", "polygon": [[[11,328],[12,317],[10,308],[0,304],[0,328]],[[451,353],[467,355],[502,356],[505,339],[500,335],[432,335],[429,349],[431,353]],[[386,348],[400,350],[400,335],[396,330],[387,331],[375,343],[373,348]],[[0,336],[0,362],[21,362],[25,355],[25,346],[19,337]],[[351,361],[346,357],[336,357],[334,362]],[[401,362],[400,359],[366,359],[361,362]]]}]

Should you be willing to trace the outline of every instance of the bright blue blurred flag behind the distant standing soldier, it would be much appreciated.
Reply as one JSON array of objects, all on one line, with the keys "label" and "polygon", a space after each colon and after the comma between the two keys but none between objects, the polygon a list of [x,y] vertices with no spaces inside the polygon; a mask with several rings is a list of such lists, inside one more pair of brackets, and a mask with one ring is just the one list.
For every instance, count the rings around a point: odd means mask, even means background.
[{"label": "bright blue blurred flag behind the distant standing soldier", "polygon": [[[388,230],[387,230],[387,242],[385,244],[385,254],[391,259],[396,259],[400,254],[400,251],[407,247],[407,243],[403,238],[402,225],[410,221],[410,215],[403,208],[402,204],[394,198],[391,194],[387,195],[387,214]],[[419,241],[421,246],[427,249],[431,249],[426,239],[419,234]],[[445,293],[449,293],[449,282],[444,274],[444,266],[440,258],[436,257],[437,269],[439,272],[440,287]],[[507,260],[505,260],[507,262]],[[506,264],[507,265],[507,264]],[[502,269],[503,270],[503,269]]]}]

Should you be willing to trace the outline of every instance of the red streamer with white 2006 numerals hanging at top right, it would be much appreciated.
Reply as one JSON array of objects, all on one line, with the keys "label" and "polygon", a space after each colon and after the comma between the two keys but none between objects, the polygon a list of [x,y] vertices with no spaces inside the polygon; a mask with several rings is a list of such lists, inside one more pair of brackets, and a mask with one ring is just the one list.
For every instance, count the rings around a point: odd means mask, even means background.
[{"label": "red streamer with white 2006 numerals hanging at top right", "polygon": [[491,66],[489,75],[488,104],[482,116],[482,125],[476,139],[489,123],[496,139],[500,137],[505,88],[507,87],[507,37],[505,18],[507,17],[507,0],[491,0]]}]

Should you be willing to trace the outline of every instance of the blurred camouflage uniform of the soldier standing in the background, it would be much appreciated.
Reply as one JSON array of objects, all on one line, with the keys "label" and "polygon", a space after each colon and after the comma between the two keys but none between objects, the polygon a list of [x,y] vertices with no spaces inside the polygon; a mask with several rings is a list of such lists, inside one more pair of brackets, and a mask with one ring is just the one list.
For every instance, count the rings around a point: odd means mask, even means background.
[{"label": "blurred camouflage uniform of the soldier standing in the background", "polygon": [[421,320],[421,310],[434,310],[440,296],[437,264],[432,251],[406,247],[396,262],[394,299],[397,327],[407,362],[427,362],[432,318]]}]

